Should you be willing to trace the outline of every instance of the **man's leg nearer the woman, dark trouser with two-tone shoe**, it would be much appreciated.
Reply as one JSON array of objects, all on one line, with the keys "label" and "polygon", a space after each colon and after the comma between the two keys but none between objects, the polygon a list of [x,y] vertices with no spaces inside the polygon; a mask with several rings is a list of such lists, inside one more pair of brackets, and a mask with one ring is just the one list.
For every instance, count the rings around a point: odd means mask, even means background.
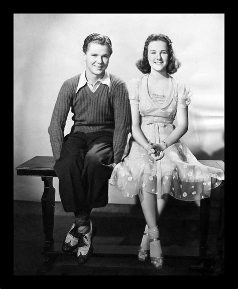
[{"label": "man's leg nearer the woman, dark trouser with two-tone shoe", "polygon": [[[88,208],[104,207],[108,203],[108,179],[112,168],[108,166],[113,161],[112,136],[102,136],[101,132],[88,134],[89,150],[85,156],[82,178],[85,183]],[[77,216],[81,233],[78,240],[78,264],[85,263],[93,252],[92,238],[95,226],[89,219],[88,212],[81,212]],[[90,227],[88,226],[90,224]],[[83,226],[85,226],[83,228]],[[88,228],[88,231],[87,231]]]}]

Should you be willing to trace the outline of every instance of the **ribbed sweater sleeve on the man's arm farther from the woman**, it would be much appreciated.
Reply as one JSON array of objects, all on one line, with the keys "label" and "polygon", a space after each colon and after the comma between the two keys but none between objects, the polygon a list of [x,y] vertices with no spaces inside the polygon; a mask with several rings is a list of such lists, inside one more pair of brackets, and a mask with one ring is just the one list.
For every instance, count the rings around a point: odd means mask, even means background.
[{"label": "ribbed sweater sleeve on the man's arm farther from the woman", "polygon": [[66,81],[60,88],[58,98],[53,110],[48,133],[50,135],[50,143],[55,160],[60,157],[60,152],[64,143],[64,128],[67,116],[72,104],[72,89],[67,85]]}]

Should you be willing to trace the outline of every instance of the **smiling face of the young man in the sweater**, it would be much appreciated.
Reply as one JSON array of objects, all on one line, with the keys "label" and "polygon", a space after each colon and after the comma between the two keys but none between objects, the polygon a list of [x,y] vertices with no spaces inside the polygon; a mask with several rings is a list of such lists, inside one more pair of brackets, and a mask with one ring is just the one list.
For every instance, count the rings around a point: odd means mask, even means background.
[{"label": "smiling face of the young man in the sweater", "polygon": [[87,52],[84,54],[87,72],[93,74],[93,76],[103,77],[109,63],[109,58],[109,48],[107,45],[89,43]]}]

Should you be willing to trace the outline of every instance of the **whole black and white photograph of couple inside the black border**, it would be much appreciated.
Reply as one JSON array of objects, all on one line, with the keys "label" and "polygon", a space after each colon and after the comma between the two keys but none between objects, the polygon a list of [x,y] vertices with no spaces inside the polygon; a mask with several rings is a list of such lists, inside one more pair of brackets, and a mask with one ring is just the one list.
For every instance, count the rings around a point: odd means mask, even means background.
[{"label": "whole black and white photograph of couple inside the black border", "polygon": [[224,275],[222,13],[15,13],[14,275]]}]

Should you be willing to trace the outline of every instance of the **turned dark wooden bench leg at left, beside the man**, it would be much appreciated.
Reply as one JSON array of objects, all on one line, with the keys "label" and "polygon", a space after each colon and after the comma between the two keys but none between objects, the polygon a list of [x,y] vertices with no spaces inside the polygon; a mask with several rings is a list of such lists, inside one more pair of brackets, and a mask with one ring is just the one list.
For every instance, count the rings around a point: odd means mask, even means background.
[{"label": "turned dark wooden bench leg at left, beside the man", "polygon": [[53,228],[55,216],[55,188],[53,187],[53,177],[42,176],[44,181],[44,192],[41,198],[43,227],[45,233],[45,251],[53,248]]}]

